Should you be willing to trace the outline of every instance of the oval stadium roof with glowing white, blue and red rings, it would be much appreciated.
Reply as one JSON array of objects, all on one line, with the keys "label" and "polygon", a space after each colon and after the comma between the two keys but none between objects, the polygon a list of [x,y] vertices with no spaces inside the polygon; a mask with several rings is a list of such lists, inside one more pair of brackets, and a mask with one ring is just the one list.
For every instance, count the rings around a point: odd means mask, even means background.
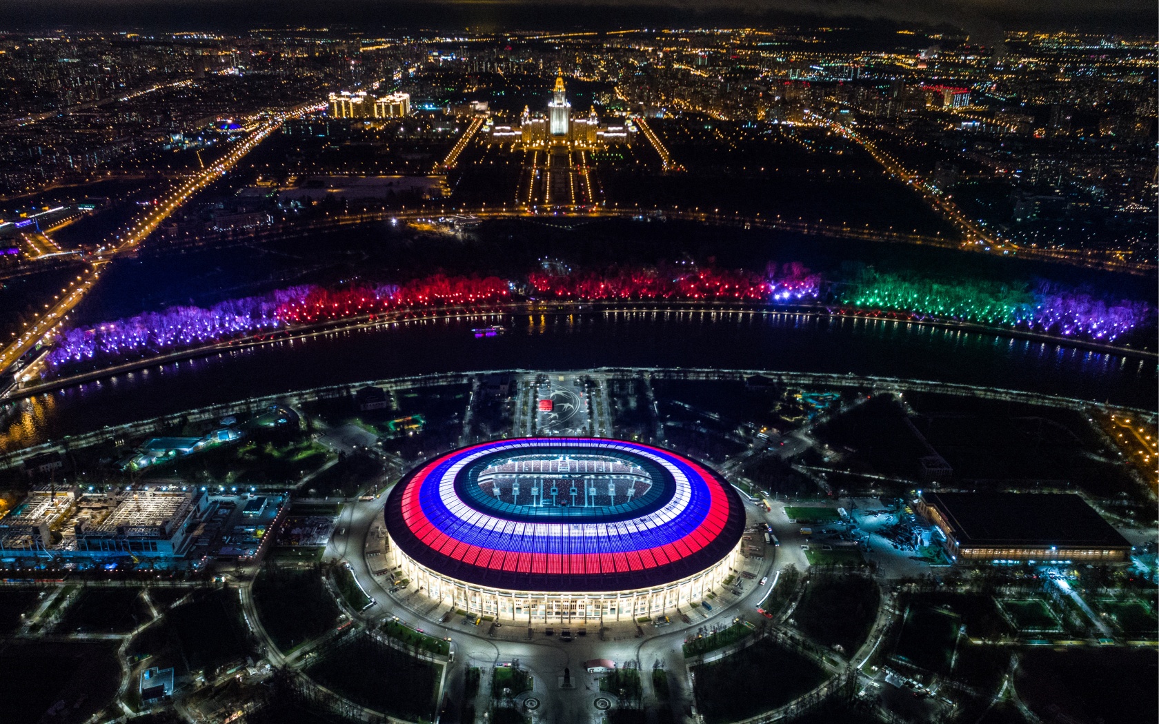
[{"label": "oval stadium roof with glowing white, blue and red rings", "polygon": [[[523,483],[523,503],[511,488],[510,500],[491,495],[497,475]],[[603,499],[613,477],[632,493]],[[599,504],[581,505],[584,493],[570,493],[583,481]],[[529,503],[537,484],[539,503]],[[547,485],[559,488],[554,504],[545,502]],[[497,440],[447,453],[395,485],[385,514],[392,540],[417,563],[516,591],[671,583],[719,562],[744,528],[736,491],[707,468],[663,448],[595,438]]]}]

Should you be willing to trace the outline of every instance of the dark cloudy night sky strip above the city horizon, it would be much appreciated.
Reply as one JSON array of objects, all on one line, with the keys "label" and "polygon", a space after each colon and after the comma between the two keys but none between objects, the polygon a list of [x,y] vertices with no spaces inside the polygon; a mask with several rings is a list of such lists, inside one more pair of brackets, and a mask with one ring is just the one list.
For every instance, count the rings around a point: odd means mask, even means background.
[{"label": "dark cloudy night sky strip above the city horizon", "polygon": [[[858,21],[946,24],[985,43],[1003,30],[1154,31],[1154,0],[5,0],[0,29],[330,30],[614,29],[656,24],[781,25]],[[870,24],[873,24],[870,22]]]}]

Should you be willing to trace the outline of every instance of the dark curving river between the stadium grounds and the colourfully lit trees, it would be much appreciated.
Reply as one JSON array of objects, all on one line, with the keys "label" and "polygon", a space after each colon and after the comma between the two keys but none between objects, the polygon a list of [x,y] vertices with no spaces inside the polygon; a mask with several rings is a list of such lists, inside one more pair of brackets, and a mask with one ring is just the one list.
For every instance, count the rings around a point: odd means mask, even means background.
[{"label": "dark curving river between the stadium grounds and the colourfully lit trees", "polygon": [[[476,339],[480,324],[510,332]],[[777,312],[600,310],[387,322],[156,365],[37,396],[0,449],[218,402],[388,376],[598,366],[858,373],[1151,408],[1153,360],[897,320]]]}]

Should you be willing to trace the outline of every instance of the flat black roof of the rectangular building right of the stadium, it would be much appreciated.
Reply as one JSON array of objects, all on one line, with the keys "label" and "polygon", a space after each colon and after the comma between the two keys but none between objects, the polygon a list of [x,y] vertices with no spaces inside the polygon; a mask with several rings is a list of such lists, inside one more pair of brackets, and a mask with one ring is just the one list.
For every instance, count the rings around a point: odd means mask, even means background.
[{"label": "flat black roof of the rectangular building right of the stadium", "polygon": [[924,492],[954,528],[958,546],[1130,548],[1118,531],[1073,493]]}]

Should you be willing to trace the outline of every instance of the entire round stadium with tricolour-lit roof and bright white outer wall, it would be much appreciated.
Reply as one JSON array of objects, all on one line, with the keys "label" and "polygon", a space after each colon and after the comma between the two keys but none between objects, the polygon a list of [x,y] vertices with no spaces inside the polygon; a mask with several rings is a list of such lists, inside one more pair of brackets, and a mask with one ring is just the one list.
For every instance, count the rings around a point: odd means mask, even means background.
[{"label": "entire round stadium with tricolour-lit roof and bright white outer wall", "polygon": [[629,619],[700,601],[741,553],[732,488],[669,451],[598,438],[465,447],[386,504],[410,586],[471,613]]}]

